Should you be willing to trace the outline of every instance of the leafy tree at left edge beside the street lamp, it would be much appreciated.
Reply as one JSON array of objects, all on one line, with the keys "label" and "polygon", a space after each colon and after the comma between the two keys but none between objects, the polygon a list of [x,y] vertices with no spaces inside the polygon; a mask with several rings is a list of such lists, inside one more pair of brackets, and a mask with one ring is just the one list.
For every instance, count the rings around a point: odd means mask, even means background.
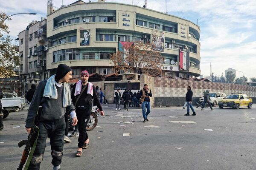
[{"label": "leafy tree at left edge beside the street lamp", "polygon": [[[15,73],[13,67],[20,64],[18,56],[17,46],[12,44],[12,39],[9,35],[3,37],[3,34],[9,34],[9,28],[4,23],[4,20],[8,17],[3,12],[0,12],[0,76],[10,77]],[[11,20],[8,18],[7,20]]]}]

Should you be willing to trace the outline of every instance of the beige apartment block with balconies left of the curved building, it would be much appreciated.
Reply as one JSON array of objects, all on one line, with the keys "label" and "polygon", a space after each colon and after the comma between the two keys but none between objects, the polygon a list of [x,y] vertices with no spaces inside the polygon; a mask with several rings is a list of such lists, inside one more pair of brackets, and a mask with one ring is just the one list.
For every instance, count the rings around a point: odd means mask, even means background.
[{"label": "beige apartment block with balconies left of the curved building", "polygon": [[[19,33],[20,74],[26,84],[39,83],[48,78],[46,71],[46,18],[32,21]],[[30,87],[26,87],[30,88]]]}]

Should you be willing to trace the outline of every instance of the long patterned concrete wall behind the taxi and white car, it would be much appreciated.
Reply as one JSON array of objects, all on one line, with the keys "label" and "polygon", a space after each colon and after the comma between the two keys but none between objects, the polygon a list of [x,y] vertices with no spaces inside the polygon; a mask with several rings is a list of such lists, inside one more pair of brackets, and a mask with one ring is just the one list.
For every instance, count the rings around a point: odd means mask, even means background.
[{"label": "long patterned concrete wall behind the taxi and white car", "polygon": [[186,96],[186,87],[189,85],[193,91],[193,103],[198,101],[203,96],[205,90],[210,92],[223,92],[230,94],[233,92],[244,93],[256,101],[256,87],[249,85],[236,85],[230,83],[217,82],[201,82],[183,79],[168,79],[159,77],[148,77],[146,75],[140,76],[140,86],[148,84],[151,88],[153,97],[151,98],[151,105],[183,105]]}]

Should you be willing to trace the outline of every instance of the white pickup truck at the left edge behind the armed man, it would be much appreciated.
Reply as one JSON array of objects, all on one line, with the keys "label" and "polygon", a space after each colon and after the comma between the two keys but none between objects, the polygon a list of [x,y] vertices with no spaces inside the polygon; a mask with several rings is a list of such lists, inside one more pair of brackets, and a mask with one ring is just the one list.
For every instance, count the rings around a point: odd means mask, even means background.
[{"label": "white pickup truck at the left edge behind the armed man", "polygon": [[17,112],[26,106],[25,97],[17,97],[17,95],[13,93],[3,93],[1,102],[3,108],[3,119],[9,116],[10,112]]}]

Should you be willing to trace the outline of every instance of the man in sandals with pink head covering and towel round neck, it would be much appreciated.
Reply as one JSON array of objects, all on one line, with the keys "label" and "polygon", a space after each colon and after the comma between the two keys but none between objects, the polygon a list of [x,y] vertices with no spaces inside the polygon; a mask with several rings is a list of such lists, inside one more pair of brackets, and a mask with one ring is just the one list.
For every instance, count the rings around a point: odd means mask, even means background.
[{"label": "man in sandals with pink head covering and towel round neck", "polygon": [[89,144],[88,135],[86,132],[87,123],[90,120],[90,113],[92,111],[93,100],[95,100],[99,113],[104,116],[102,106],[99,102],[99,98],[96,94],[96,88],[88,82],[89,73],[84,70],[81,72],[81,80],[75,83],[72,91],[72,102],[76,107],[76,113],[78,118],[78,149],[76,157],[82,156],[82,149],[87,149]]}]

